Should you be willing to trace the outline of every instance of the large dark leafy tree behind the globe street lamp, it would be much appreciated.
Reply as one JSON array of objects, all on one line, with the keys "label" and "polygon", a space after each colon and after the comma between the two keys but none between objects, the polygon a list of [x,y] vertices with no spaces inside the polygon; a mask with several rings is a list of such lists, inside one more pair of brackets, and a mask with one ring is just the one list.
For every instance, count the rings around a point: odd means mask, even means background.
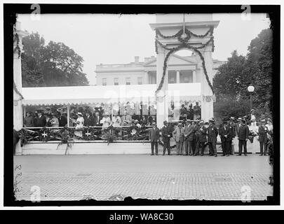
[{"label": "large dark leafy tree behind the globe street lamp", "polygon": [[[218,111],[230,114],[234,112],[231,110],[235,110],[232,107],[222,109],[225,105],[220,101],[223,99],[247,102],[247,87],[251,84],[255,87],[253,106],[259,113],[269,112],[272,96],[272,48],[272,31],[264,29],[250,42],[246,57],[238,55],[235,50],[228,62],[219,67],[213,78],[217,98],[215,108]],[[226,113],[224,110],[227,110]]]}]

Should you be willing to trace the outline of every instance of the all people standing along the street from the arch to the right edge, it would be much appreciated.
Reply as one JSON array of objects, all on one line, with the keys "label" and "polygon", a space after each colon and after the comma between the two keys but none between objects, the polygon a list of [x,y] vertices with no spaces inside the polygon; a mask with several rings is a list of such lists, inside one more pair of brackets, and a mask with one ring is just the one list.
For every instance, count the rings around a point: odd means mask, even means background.
[{"label": "all people standing along the street from the arch to the right edge", "polygon": [[[253,110],[251,111],[252,113]],[[170,130],[168,122],[164,121],[161,130],[154,125],[150,130],[149,139],[151,141],[151,155],[158,155],[158,138],[163,139],[163,155],[168,151],[170,155],[170,138],[175,139],[177,155],[204,155],[205,147],[209,147],[209,155],[217,157],[217,136],[221,139],[222,156],[234,155],[232,147],[233,139],[238,138],[238,154],[248,155],[247,142],[250,137],[257,137],[259,141],[260,154],[268,155],[267,146],[269,139],[273,135],[273,125],[271,119],[255,121],[253,116],[245,116],[223,121],[220,125],[215,125],[215,119],[211,118],[208,122],[204,120],[187,120],[186,124],[178,123],[174,130]],[[252,125],[255,123],[256,127]]]}]

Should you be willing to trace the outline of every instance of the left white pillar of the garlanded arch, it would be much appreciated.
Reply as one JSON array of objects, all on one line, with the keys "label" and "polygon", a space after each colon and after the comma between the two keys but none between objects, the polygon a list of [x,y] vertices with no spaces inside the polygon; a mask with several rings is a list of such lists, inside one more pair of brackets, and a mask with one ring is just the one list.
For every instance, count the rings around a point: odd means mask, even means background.
[{"label": "left white pillar of the garlanded arch", "polygon": [[[165,59],[165,50],[158,46],[157,62],[156,62],[156,87],[160,85],[163,77],[163,63]],[[168,121],[168,73],[165,74],[163,87],[156,94],[156,122],[157,127],[163,127],[163,121]]]}]

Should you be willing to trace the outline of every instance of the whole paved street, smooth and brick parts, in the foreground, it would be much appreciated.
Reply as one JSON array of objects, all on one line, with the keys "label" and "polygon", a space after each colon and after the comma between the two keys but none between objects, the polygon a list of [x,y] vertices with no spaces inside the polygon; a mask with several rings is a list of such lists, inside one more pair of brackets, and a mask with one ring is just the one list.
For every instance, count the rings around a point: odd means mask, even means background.
[{"label": "whole paved street, smooth and brick parts, in the foreground", "polygon": [[150,155],[22,155],[14,157],[18,200],[121,200],[123,197],[178,200],[251,200],[272,195],[268,157],[217,158]]}]

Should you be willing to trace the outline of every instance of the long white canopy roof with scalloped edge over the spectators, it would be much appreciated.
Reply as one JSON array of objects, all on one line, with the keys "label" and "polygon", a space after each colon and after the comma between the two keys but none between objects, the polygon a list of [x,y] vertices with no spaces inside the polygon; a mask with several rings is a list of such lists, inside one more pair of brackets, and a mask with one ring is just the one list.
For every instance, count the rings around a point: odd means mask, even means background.
[{"label": "long white canopy roof with scalloped edge over the spectators", "polygon": [[[156,84],[96,85],[68,87],[23,87],[23,105],[67,105],[155,101]],[[201,83],[168,85],[168,96],[174,101],[200,101]]]}]

